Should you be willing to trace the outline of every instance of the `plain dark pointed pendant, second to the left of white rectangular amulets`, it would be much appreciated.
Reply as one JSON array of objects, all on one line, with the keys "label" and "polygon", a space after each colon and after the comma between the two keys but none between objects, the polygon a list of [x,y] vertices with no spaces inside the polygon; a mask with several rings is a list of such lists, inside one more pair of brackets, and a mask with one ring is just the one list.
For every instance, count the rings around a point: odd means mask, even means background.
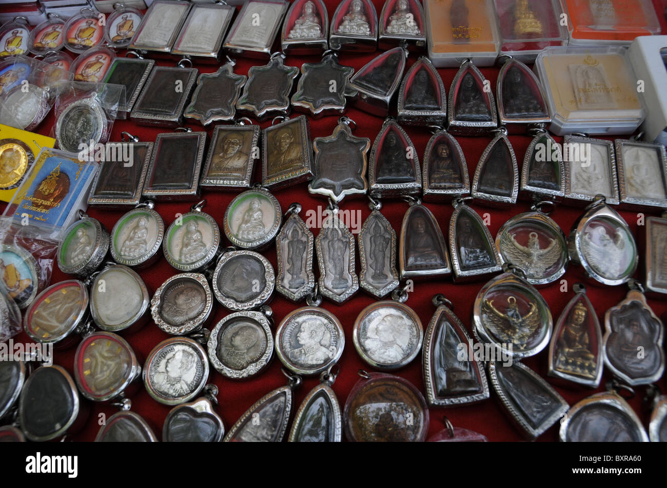
[{"label": "plain dark pointed pendant, second to the left of white rectangular amulets", "polygon": [[519,168],[516,155],[502,128],[486,146],[472,179],[472,196],[476,202],[490,206],[516,203],[519,193]]}]

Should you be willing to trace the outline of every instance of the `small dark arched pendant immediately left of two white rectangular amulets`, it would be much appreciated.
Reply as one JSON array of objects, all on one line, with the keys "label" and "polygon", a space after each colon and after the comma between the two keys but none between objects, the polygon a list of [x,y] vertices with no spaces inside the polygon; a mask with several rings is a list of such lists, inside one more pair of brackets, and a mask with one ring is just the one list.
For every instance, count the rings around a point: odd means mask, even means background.
[{"label": "small dark arched pendant immediately left of two white rectangular amulets", "polygon": [[521,168],[521,198],[560,202],[565,196],[565,164],[560,144],[540,131],[528,144]]}]

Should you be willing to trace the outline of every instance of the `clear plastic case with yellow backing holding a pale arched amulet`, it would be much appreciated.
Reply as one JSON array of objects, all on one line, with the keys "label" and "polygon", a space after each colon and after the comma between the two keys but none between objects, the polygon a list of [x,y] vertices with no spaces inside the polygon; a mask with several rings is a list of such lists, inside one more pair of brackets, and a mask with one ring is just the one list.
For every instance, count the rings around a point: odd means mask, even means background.
[{"label": "clear plastic case with yellow backing holding a pale arched amulet", "polygon": [[556,135],[632,134],[644,120],[624,47],[550,47],[538,55],[534,71]]}]

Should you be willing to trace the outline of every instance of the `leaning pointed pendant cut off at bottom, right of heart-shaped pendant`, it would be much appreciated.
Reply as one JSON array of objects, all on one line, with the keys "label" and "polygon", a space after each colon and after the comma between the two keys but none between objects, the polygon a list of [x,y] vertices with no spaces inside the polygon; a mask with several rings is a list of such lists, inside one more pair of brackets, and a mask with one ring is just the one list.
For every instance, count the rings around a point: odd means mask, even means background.
[{"label": "leaning pointed pendant cut off at bottom, right of heart-shaped pendant", "polygon": [[289,384],[274,389],[255,402],[229,429],[223,442],[281,442],[291,415],[292,391],[301,385],[299,375],[283,374]]}]

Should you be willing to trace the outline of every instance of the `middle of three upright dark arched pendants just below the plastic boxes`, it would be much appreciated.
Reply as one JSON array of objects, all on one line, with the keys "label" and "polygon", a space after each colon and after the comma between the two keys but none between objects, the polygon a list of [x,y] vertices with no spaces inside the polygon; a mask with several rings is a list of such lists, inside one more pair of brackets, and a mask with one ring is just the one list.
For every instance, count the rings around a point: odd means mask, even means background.
[{"label": "middle of three upright dark arched pendants just below the plastic boxes", "polygon": [[487,134],[498,126],[494,94],[486,86],[482,72],[472,61],[464,61],[450,87],[447,120],[452,134]]}]

